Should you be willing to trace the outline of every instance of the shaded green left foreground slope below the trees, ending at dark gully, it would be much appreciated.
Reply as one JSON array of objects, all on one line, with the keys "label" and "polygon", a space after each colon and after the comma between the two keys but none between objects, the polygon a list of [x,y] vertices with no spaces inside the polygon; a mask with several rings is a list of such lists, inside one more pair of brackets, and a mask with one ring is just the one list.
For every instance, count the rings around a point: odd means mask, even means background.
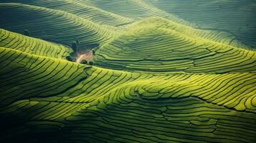
[{"label": "shaded green left foreground slope below the trees, ending at dark gully", "polygon": [[85,66],[1,48],[1,107],[17,99],[54,97],[87,77]]}]

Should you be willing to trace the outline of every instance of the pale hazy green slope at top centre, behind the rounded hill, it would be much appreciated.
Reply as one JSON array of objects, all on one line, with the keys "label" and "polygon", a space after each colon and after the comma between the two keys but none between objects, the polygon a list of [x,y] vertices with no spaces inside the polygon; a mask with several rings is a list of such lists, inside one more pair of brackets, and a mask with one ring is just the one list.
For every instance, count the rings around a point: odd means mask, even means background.
[{"label": "pale hazy green slope at top centre, behind the rounded hill", "polygon": [[191,24],[184,19],[180,19],[176,15],[169,14],[166,11],[157,9],[155,6],[147,4],[145,1],[141,0],[115,0],[115,1],[105,1],[105,0],[75,0],[77,3],[85,4],[88,6],[95,6],[104,11],[109,11],[113,14],[118,14],[123,17],[130,19],[144,19],[151,16],[159,16],[171,21],[175,21],[180,24],[185,24],[188,26],[196,26],[196,24]]}]

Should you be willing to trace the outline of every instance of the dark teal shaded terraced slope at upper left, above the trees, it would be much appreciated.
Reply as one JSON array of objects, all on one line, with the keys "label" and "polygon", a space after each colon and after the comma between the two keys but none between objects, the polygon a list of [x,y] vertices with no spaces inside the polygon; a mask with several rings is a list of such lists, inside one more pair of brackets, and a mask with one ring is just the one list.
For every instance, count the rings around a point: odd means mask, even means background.
[{"label": "dark teal shaded terraced slope at upper left, above the trees", "polygon": [[101,44],[117,35],[113,26],[100,26],[93,21],[79,16],[26,4],[0,4],[0,27],[9,31],[23,33],[29,30],[30,35],[70,45],[75,39],[81,46]]}]

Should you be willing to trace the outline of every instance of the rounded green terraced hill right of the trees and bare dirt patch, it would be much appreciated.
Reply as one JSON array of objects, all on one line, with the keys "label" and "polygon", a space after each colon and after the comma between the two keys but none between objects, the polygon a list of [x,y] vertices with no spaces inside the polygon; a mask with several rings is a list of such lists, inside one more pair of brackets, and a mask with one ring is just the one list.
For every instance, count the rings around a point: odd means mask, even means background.
[{"label": "rounded green terraced hill right of the trees and bare dirt patch", "polygon": [[101,46],[93,57],[95,64],[139,71],[255,72],[255,51],[229,46],[233,40],[225,33],[159,18],[141,23]]}]

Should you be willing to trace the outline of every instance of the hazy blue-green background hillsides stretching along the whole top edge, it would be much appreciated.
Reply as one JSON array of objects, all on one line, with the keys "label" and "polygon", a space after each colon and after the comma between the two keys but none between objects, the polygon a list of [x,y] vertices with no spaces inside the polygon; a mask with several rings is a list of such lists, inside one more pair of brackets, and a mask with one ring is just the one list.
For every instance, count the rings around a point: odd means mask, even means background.
[{"label": "hazy blue-green background hillsides stretching along the whole top edge", "polygon": [[[251,48],[255,47],[256,25],[253,9],[255,1],[252,0],[185,2],[176,0],[1,0],[0,2],[58,9],[98,24],[111,26],[130,24],[138,19],[159,16],[197,29],[226,31],[234,35],[236,40],[242,41]],[[237,19],[240,20],[237,21]]]}]

